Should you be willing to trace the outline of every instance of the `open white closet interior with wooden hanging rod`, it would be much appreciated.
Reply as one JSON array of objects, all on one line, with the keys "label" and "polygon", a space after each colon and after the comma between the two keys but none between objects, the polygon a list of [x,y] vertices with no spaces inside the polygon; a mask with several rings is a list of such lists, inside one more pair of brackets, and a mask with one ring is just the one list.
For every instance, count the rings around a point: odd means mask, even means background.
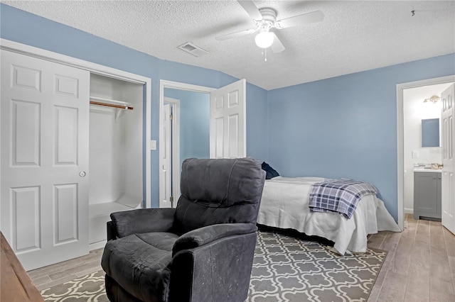
[{"label": "open white closet interior with wooden hanging rod", "polygon": [[143,85],[90,74],[89,243],[106,240],[109,214],[141,208]]}]

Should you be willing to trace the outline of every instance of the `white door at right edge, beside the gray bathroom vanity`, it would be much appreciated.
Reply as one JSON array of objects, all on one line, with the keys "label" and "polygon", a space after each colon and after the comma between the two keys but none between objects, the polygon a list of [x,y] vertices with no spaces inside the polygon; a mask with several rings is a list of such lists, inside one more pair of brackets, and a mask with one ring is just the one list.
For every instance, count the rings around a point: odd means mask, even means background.
[{"label": "white door at right edge, beside the gray bathroom vanity", "polygon": [[442,225],[455,234],[455,84],[441,94],[442,180],[441,218]]}]

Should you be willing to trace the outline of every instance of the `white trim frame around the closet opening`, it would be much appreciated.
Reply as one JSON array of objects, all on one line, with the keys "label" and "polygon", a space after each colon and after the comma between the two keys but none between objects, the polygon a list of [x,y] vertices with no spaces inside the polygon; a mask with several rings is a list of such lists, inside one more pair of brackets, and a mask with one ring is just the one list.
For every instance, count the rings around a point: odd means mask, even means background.
[{"label": "white trim frame around the closet opening", "polygon": [[150,152],[150,141],[151,141],[151,79],[148,77],[142,77],[138,74],[132,74],[125,72],[120,69],[114,69],[104,65],[95,64],[85,60],[76,59],[75,57],[68,57],[67,55],[61,55],[57,52],[51,52],[49,50],[43,50],[38,47],[17,43],[11,40],[0,39],[0,49],[9,50],[12,52],[18,52],[23,55],[31,57],[37,57],[39,59],[48,60],[50,62],[56,62],[63,65],[68,65],[80,69],[85,69],[89,72],[112,77],[114,79],[120,79],[122,81],[132,82],[135,84],[145,85],[146,90],[146,104],[144,111],[146,112],[146,129],[145,129],[145,207],[151,208],[151,152]]}]

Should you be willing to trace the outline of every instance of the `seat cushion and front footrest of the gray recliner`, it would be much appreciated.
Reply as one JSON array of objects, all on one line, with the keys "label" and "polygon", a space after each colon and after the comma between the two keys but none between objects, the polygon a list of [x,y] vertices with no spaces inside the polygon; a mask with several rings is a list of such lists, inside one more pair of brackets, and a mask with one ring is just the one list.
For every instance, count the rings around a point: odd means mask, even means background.
[{"label": "seat cushion and front footrest of the gray recliner", "polygon": [[178,235],[142,233],[107,242],[101,265],[119,286],[139,298],[165,300],[170,279],[168,264]]}]

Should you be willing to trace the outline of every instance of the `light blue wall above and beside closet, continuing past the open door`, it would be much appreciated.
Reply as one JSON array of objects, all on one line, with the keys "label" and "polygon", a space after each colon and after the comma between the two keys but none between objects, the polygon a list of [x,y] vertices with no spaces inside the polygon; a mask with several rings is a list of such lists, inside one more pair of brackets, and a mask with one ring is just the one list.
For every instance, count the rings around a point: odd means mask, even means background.
[{"label": "light blue wall above and beside closet, continuing past the open door", "polygon": [[[220,88],[237,80],[216,70],[160,60],[144,52],[132,50],[5,4],[0,4],[0,37],[151,78],[150,139],[157,140],[158,144],[160,79],[213,88]],[[247,128],[247,138],[255,137],[248,142],[247,155],[265,157],[267,133],[263,116],[267,111],[267,91],[247,84],[247,96],[254,100],[252,102],[257,106],[255,110],[247,112],[247,127],[251,128]],[[251,108],[250,104],[247,104],[247,110],[248,108]],[[258,129],[262,129],[262,133],[257,132]],[[255,132],[253,133],[252,130]],[[151,151],[151,184],[149,185],[153,207],[158,206],[159,199],[158,166],[159,153]]]}]

